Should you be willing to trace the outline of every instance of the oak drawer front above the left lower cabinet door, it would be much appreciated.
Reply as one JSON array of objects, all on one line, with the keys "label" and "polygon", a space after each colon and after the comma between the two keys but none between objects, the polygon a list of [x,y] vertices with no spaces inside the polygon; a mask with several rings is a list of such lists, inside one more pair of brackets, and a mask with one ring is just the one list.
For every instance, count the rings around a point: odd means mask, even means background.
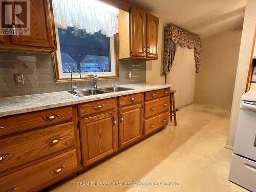
[{"label": "oak drawer front above the left lower cabinet door", "polygon": [[78,116],[91,115],[115,108],[115,98],[92,101],[78,105]]}]

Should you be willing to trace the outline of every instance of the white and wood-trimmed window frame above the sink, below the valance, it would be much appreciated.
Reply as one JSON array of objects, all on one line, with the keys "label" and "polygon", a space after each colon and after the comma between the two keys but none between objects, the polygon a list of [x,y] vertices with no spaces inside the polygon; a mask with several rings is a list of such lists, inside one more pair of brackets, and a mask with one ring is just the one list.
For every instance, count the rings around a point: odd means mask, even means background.
[{"label": "white and wood-trimmed window frame above the sink, below the valance", "polygon": [[[56,32],[56,38],[57,38],[57,51],[54,51],[52,53],[52,57],[53,57],[53,67],[54,67],[54,77],[55,77],[55,81],[70,81],[71,80],[71,73],[63,73],[62,72],[62,63],[60,63],[60,46],[59,46],[59,37],[58,37],[58,29],[55,28],[55,32]],[[73,73],[73,79],[75,79],[76,81],[79,80],[90,80],[93,79],[93,75],[92,74],[96,74],[98,75],[99,79],[115,79],[115,78],[119,78],[119,62],[118,62],[118,34],[114,35],[114,37],[110,38],[110,44],[113,45],[113,47],[111,48],[110,46],[110,53],[114,53],[110,54],[111,56],[111,70],[114,70],[113,72],[93,72],[93,73],[88,73],[88,72],[81,72],[81,78],[79,78],[79,74],[78,73]],[[60,59],[59,59],[60,58]],[[114,64],[114,65],[113,65]],[[60,66],[60,67],[59,67]],[[108,73],[108,74],[106,74]]]}]

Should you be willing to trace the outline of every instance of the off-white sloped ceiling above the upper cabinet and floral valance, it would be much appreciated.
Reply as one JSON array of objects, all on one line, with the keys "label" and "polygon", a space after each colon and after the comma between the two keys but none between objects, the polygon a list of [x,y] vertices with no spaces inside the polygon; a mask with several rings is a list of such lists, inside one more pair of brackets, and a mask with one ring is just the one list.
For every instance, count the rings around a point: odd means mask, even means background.
[{"label": "off-white sloped ceiling above the upper cabinet and floral valance", "polygon": [[201,38],[242,28],[246,0],[123,0]]}]

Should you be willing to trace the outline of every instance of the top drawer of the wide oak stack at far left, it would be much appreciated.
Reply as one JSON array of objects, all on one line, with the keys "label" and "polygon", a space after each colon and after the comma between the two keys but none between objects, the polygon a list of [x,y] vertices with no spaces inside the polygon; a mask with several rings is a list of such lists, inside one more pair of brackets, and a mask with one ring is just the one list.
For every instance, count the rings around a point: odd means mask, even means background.
[{"label": "top drawer of the wide oak stack at far left", "polygon": [[72,120],[72,106],[0,118],[0,136]]}]

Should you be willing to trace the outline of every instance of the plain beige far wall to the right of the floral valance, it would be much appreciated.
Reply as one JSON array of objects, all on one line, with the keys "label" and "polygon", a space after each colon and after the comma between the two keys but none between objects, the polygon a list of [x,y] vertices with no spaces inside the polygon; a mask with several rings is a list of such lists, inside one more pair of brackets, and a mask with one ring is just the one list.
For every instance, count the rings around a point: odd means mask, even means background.
[{"label": "plain beige far wall to the right of the floral valance", "polygon": [[195,101],[231,108],[238,65],[241,30],[228,30],[202,39]]}]

